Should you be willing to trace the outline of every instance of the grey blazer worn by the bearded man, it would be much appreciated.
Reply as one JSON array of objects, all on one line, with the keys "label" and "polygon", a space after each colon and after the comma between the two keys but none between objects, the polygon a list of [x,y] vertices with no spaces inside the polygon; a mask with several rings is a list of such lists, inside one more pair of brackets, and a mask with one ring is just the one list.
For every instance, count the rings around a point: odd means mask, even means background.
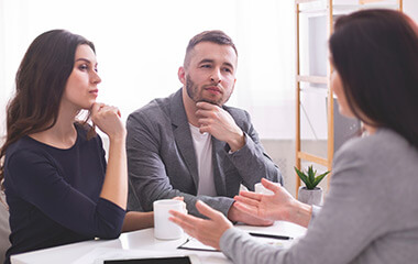
[{"label": "grey blazer worn by the bearded man", "polygon": [[129,116],[129,210],[151,211],[155,200],[183,196],[189,213],[200,216],[195,208],[200,199],[227,216],[240,184],[253,189],[262,177],[282,183],[279,169],[264,153],[249,113],[231,107],[223,109],[245,133],[246,143],[230,154],[228,144],[212,136],[217,197],[197,196],[197,160],[182,89],[167,98],[155,99]]}]

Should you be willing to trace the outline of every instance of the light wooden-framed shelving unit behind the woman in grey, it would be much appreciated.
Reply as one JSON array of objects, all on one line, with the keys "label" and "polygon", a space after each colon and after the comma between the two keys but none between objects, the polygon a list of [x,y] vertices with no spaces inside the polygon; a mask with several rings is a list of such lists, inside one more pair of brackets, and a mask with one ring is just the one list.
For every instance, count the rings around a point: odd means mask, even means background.
[{"label": "light wooden-framed shelving unit behind the woman in grey", "polygon": [[[334,154],[334,96],[330,87],[332,66],[326,59],[326,75],[316,75],[310,73],[301,73],[300,57],[300,22],[301,14],[308,16],[326,16],[327,40],[332,34],[333,22],[336,15],[346,14],[360,9],[369,8],[388,8],[403,10],[403,0],[295,0],[296,12],[296,167],[301,168],[301,161],[316,163],[331,170],[332,158]],[[308,55],[309,56],[309,55]],[[328,57],[328,56],[327,56]],[[301,84],[307,84],[307,88],[302,88]],[[306,85],[305,85],[306,86]],[[311,86],[322,86],[323,88],[310,88]],[[301,150],[301,94],[302,92],[322,92],[327,100],[327,154],[324,156],[309,153]],[[300,180],[296,177],[296,194],[300,187]],[[331,175],[328,176],[327,186],[329,187]]]}]

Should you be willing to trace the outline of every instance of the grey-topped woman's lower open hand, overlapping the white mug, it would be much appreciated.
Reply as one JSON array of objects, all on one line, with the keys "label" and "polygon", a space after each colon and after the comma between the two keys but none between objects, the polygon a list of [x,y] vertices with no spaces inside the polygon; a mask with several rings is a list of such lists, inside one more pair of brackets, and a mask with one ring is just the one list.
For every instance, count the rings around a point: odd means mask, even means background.
[{"label": "grey-topped woman's lower open hand, overlapping the white mug", "polygon": [[196,208],[209,219],[201,219],[170,210],[169,213],[173,217],[169,220],[180,226],[190,237],[219,250],[219,241],[223,232],[232,228],[232,223],[221,212],[213,210],[200,200],[196,202]]}]

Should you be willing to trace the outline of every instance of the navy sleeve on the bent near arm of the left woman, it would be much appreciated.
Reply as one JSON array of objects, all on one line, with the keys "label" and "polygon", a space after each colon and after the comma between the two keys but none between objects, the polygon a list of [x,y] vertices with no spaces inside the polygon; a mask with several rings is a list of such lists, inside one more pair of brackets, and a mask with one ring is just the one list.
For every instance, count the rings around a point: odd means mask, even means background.
[{"label": "navy sleeve on the bent near arm of the left woman", "polygon": [[125,211],[107,199],[96,202],[73,188],[44,154],[15,152],[7,169],[15,193],[63,227],[87,237],[119,237]]}]

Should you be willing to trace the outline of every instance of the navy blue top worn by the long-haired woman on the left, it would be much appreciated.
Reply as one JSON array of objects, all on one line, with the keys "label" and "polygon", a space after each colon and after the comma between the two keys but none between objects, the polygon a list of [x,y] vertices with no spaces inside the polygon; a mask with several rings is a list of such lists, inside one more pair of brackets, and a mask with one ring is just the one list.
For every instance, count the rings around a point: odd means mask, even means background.
[{"label": "navy blue top worn by the long-haired woman on the left", "polygon": [[79,124],[67,150],[24,136],[4,158],[10,210],[10,255],[94,238],[119,237],[125,211],[100,198],[106,160],[99,135],[87,140]]}]

